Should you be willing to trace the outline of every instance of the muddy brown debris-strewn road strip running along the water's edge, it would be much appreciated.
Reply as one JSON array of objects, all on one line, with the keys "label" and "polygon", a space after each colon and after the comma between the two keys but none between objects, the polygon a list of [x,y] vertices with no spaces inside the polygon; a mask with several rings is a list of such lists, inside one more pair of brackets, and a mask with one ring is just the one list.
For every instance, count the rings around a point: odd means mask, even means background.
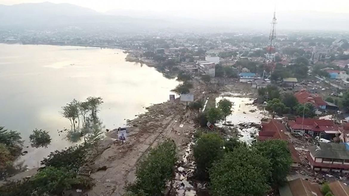
[{"label": "muddy brown debris-strewn road strip running along the water's edge", "polygon": [[[184,153],[190,142],[190,132],[194,130],[194,121],[183,104],[166,102],[154,105],[148,112],[129,122],[134,128],[129,132],[128,141],[124,144],[113,144],[111,138],[117,133],[111,132],[104,145],[110,145],[93,163],[92,167],[106,166],[105,171],[92,173],[96,184],[88,192],[89,196],[119,196],[124,193],[126,183],[135,180],[135,169],[138,160],[165,138],[176,142],[179,154]],[[173,131],[172,131],[173,128]]]}]

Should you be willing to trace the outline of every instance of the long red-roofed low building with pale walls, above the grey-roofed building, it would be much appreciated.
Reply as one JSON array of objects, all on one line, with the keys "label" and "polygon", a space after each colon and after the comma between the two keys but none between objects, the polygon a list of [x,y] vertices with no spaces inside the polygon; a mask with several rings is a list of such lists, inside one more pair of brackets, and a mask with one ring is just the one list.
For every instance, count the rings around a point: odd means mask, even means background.
[{"label": "long red-roofed low building with pale walls, above the grey-roofed building", "polygon": [[340,133],[339,127],[332,120],[296,118],[295,121],[289,120],[288,126],[293,134],[308,134],[327,139],[333,139]]}]

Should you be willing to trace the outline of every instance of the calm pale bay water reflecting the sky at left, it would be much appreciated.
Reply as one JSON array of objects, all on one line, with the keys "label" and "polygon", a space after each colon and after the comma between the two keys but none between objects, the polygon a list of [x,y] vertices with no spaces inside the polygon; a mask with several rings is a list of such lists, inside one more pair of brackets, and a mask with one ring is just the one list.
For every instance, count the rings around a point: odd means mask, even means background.
[{"label": "calm pale bay water reflecting the sky at left", "polygon": [[26,141],[35,128],[53,138],[49,148],[24,148],[24,164],[36,167],[50,151],[71,145],[57,130],[70,127],[60,111],[74,98],[101,96],[99,116],[109,129],[169,99],[175,80],[125,57],[118,49],[0,44],[0,126],[21,132]]}]

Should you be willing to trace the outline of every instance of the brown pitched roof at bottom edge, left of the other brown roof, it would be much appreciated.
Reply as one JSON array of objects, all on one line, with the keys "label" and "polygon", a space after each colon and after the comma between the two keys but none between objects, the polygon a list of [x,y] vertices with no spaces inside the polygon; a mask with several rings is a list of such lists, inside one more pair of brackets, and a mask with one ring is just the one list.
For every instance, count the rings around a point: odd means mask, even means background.
[{"label": "brown pitched roof at bottom edge, left of the other brown roof", "polygon": [[288,181],[284,186],[279,187],[280,196],[324,196],[321,193],[321,186],[301,178]]}]

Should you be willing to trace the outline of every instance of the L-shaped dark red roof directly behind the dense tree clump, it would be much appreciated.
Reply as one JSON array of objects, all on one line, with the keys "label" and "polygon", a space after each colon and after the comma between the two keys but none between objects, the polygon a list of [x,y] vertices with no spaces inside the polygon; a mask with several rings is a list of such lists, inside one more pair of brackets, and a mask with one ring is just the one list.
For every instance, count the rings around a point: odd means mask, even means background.
[{"label": "L-shaped dark red roof directly behind the dense tree clump", "polygon": [[262,123],[261,131],[258,132],[258,141],[265,140],[284,140],[287,141],[288,149],[291,152],[292,167],[298,167],[300,158],[298,152],[290,141],[290,137],[285,134],[286,127],[278,120],[271,119],[269,123]]}]

